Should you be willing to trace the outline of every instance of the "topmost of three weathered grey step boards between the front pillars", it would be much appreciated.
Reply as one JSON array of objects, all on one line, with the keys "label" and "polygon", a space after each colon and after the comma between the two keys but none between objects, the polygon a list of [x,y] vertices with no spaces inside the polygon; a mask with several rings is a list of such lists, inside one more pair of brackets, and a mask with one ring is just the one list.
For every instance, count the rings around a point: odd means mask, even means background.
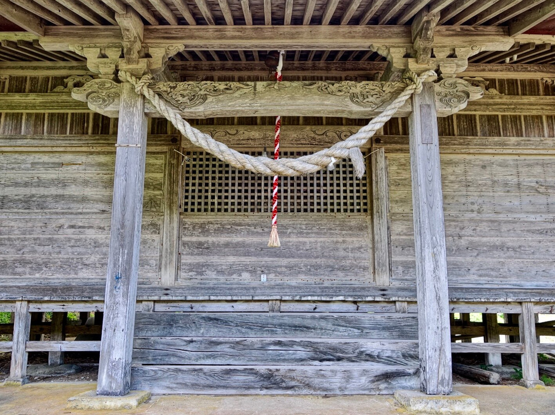
[{"label": "topmost of three weathered grey step boards between the front pillars", "polygon": [[413,340],[416,316],[387,313],[137,313],[140,337],[334,337]]}]

